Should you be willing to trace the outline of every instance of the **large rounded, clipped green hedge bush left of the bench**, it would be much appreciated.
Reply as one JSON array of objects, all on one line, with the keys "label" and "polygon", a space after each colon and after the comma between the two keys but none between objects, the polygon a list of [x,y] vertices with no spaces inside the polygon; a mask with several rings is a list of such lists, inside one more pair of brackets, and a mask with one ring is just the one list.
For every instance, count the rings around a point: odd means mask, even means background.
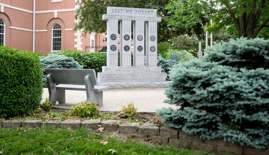
[{"label": "large rounded, clipped green hedge bush left of the bench", "polygon": [[43,93],[37,54],[0,46],[0,66],[0,117],[29,114]]}]

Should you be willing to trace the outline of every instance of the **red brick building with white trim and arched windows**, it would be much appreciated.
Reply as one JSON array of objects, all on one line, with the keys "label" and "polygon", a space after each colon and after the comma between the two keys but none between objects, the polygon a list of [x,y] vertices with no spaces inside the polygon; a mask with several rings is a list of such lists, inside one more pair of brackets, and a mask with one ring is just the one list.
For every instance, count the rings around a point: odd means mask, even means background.
[{"label": "red brick building with white trim and arched windows", "polygon": [[[96,51],[105,34],[73,31],[77,0],[0,0],[0,45],[47,55],[72,49]],[[97,49],[98,51],[100,50]]]}]

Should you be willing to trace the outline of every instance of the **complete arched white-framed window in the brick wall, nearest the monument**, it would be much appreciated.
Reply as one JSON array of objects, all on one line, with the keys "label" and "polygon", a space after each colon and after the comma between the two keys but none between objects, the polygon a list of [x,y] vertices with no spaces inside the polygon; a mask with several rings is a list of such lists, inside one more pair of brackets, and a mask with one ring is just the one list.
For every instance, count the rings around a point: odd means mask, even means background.
[{"label": "complete arched white-framed window in the brick wall, nearest the monument", "polygon": [[52,26],[52,44],[51,50],[52,51],[59,51],[61,50],[61,26],[59,24],[54,24]]}]

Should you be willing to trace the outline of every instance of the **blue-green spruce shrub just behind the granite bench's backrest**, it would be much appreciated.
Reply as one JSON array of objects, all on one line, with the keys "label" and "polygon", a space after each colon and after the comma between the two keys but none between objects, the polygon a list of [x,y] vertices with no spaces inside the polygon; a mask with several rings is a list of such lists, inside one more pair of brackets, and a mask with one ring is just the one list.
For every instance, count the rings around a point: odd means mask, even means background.
[{"label": "blue-green spruce shrub just behind the granite bench's backrest", "polygon": [[61,69],[82,69],[73,58],[69,58],[58,54],[49,54],[48,56],[39,57],[43,71],[43,87],[48,87],[45,68],[61,68]]}]

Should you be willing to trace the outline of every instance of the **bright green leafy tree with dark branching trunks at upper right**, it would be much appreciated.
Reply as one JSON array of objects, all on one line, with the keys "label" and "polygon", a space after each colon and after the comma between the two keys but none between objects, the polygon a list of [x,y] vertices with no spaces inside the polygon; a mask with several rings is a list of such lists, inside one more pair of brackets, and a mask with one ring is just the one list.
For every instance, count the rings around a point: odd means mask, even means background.
[{"label": "bright green leafy tree with dark branching trunks at upper right", "polygon": [[[171,15],[169,26],[174,26],[175,30],[207,25],[210,32],[235,30],[239,37],[250,39],[268,38],[268,4],[266,0],[175,0],[166,5],[166,9]],[[212,26],[209,19],[213,19]],[[201,39],[203,32],[196,35]]]}]

